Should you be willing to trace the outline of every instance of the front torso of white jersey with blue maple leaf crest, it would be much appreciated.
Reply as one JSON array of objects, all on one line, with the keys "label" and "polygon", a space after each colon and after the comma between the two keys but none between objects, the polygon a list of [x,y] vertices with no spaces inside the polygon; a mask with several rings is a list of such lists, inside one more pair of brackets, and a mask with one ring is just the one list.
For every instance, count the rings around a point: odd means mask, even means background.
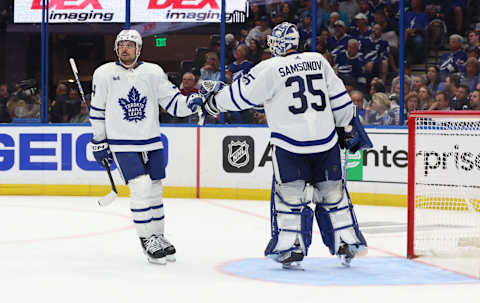
[{"label": "front torso of white jersey with blue maple leaf crest", "polygon": [[149,63],[139,62],[135,69],[128,70],[117,62],[112,63],[107,72],[102,77],[108,87],[105,127],[112,150],[161,148],[159,71]]}]

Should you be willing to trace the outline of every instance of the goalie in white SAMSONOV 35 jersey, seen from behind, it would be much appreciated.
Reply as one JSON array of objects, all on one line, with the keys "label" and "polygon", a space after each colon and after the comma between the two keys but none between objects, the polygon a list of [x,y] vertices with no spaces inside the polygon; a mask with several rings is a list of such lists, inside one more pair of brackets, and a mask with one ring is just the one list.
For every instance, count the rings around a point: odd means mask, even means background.
[{"label": "goalie in white SAMSONOV 35 jersey, seen from behind", "polygon": [[[323,242],[345,266],[367,251],[342,179],[340,143],[371,147],[342,81],[319,53],[298,53],[295,25],[277,25],[268,37],[273,58],[260,62],[231,85],[205,81],[202,106],[211,115],[263,107],[271,131],[274,184],[272,239],[265,255],[295,268],[308,253],[315,216]],[[306,186],[313,187],[313,201]],[[309,204],[313,202],[313,211]]]}]

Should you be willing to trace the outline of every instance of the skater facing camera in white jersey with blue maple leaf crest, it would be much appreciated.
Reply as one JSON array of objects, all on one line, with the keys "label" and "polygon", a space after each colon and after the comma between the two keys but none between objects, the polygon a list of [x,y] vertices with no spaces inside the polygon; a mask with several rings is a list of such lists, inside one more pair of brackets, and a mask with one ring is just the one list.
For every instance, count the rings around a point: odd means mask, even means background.
[{"label": "skater facing camera in white jersey with blue maple leaf crest", "polygon": [[192,114],[183,96],[162,68],[138,61],[142,37],[122,30],[115,40],[117,62],[98,67],[93,74],[90,122],[97,162],[114,160],[130,189],[130,209],[149,262],[175,261],[175,247],[164,236],[162,179],[164,150],[159,105],[170,115]]}]

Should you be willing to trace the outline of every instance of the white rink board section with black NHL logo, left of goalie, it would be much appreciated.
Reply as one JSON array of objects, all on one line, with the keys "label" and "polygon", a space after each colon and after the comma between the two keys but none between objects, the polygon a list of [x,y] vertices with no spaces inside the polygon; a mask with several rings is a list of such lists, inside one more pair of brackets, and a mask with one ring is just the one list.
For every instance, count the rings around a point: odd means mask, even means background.
[{"label": "white rink board section with black NHL logo, left of goalie", "polygon": [[200,187],[259,188],[272,185],[268,128],[202,128]]}]

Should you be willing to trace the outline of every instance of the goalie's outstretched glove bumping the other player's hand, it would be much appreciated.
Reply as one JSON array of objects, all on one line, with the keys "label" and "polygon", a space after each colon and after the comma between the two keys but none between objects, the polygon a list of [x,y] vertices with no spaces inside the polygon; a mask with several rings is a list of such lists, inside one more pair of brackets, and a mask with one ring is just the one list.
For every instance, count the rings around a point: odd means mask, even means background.
[{"label": "goalie's outstretched glove bumping the other player's hand", "polygon": [[209,115],[214,117],[217,116],[220,113],[220,110],[218,110],[216,106],[215,94],[217,94],[224,87],[225,83],[222,81],[203,81],[199,89],[200,95],[189,98],[187,104],[188,108],[190,108],[192,112],[195,112],[199,107],[201,107],[202,110],[207,112]]}]

